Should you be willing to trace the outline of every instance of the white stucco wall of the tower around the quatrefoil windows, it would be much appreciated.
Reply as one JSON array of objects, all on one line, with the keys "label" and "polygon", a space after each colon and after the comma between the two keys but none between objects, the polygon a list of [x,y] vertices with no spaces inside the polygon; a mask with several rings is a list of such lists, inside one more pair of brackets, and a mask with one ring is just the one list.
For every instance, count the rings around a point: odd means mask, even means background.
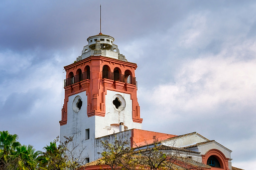
[{"label": "white stucco wall of the tower around the quatrefoil windows", "polygon": [[[116,110],[112,103],[113,97],[115,95],[122,96],[125,101],[125,107],[122,110]],[[81,109],[78,112],[75,112],[73,109],[73,101],[74,99],[80,96],[82,100]],[[123,122],[124,126],[127,129],[141,129],[141,123],[133,122],[132,118],[132,100],[130,94],[119,93],[115,91],[107,91],[105,96],[106,101],[106,111],[105,117],[102,116],[87,116],[87,96],[86,92],[81,92],[79,94],[75,94],[69,96],[68,104],[67,104],[67,124],[62,125],[60,127],[60,139],[64,141],[63,136],[73,136],[73,141],[76,144],[82,146],[86,146],[86,150],[83,152],[83,156],[89,157],[90,161],[99,158],[97,152],[100,151],[99,141],[97,140],[97,147],[95,148],[95,138],[106,136],[109,134],[117,133],[119,137],[122,135],[131,137],[131,130],[124,131],[122,133],[119,132],[119,123]],[[112,124],[112,127],[111,127]],[[85,139],[85,130],[90,129],[90,137],[89,139]]]}]

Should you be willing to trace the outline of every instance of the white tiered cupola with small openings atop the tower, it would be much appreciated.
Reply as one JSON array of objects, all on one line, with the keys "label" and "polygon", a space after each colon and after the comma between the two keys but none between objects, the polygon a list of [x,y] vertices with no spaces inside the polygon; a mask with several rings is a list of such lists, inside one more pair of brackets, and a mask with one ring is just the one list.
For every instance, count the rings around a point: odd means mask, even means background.
[{"label": "white tiered cupola with small openings atop the tower", "polygon": [[119,53],[117,45],[113,44],[114,38],[99,33],[98,35],[87,38],[88,45],[84,46],[82,55],[76,60],[80,61],[89,56],[110,57],[122,61],[127,61],[124,55]]}]

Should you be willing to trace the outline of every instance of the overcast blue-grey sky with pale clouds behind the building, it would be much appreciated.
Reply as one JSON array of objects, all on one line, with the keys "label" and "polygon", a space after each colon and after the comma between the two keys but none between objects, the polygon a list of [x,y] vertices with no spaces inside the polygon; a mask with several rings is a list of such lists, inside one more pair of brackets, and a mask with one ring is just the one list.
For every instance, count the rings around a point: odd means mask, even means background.
[{"label": "overcast blue-grey sky with pale clouds behind the building", "polygon": [[0,131],[59,135],[63,66],[99,30],[137,63],[143,129],[198,132],[256,163],[255,1],[0,1]]}]

